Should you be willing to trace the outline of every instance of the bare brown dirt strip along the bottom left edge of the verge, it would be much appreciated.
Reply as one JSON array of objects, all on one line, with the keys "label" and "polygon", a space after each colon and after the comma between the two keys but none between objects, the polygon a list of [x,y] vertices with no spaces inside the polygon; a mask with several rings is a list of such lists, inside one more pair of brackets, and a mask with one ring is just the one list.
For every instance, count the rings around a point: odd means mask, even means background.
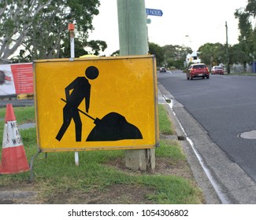
[{"label": "bare brown dirt strip along the bottom left edge of the verge", "polygon": [[43,200],[36,191],[0,189],[0,204],[150,204],[147,195],[154,193],[152,189],[140,185],[109,185],[106,189],[80,192],[67,189],[55,192]]}]

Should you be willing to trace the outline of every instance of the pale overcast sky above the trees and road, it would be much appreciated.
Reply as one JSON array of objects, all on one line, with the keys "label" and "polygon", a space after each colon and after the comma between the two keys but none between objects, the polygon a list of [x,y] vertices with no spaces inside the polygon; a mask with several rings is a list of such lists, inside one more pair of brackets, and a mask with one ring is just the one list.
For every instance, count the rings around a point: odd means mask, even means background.
[{"label": "pale overcast sky above the trees and road", "polygon": [[[95,30],[89,39],[106,41],[109,56],[119,49],[117,0],[100,0],[99,14],[93,19]],[[239,36],[236,9],[247,6],[247,0],[145,0],[146,8],[161,9],[162,16],[148,16],[148,38],[160,46],[184,45],[197,50],[206,42],[236,44]]]}]

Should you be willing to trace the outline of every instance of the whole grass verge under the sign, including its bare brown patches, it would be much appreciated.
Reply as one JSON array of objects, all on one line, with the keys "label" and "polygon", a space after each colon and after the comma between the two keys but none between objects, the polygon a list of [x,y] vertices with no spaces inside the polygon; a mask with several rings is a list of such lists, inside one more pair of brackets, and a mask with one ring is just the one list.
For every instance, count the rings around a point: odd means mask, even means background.
[{"label": "whole grass verge under the sign, including its bare brown patches", "polygon": [[[158,106],[160,133],[174,134],[165,106]],[[35,121],[33,107],[14,112],[18,125]],[[0,108],[0,140],[5,114],[6,109]],[[37,152],[35,128],[20,134],[30,160]],[[73,152],[48,153],[47,158],[41,153],[34,162],[33,183],[28,182],[29,172],[0,175],[0,190],[37,192],[27,203],[204,203],[178,141],[160,140],[154,172],[128,170],[124,155],[123,150],[80,152],[76,167]]]}]

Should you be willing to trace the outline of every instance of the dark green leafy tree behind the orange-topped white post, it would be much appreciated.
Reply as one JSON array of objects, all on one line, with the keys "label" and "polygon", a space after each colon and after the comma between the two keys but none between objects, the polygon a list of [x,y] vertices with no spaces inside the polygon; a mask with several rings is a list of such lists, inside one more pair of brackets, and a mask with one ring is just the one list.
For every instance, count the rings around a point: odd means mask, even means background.
[{"label": "dark green leafy tree behind the orange-topped white post", "polygon": [[29,32],[30,38],[24,43],[32,59],[69,57],[69,23],[75,24],[76,57],[88,53],[85,47],[90,47],[95,55],[104,51],[106,42],[87,42],[88,31],[93,30],[93,16],[98,15],[98,6],[98,0],[52,0],[37,16]]}]

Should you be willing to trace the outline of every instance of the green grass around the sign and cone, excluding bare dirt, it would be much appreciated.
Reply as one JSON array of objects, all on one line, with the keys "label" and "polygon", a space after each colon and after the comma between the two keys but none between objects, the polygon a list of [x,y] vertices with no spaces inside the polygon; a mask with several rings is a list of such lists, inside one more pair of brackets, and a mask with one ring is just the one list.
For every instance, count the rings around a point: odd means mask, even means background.
[{"label": "green grass around the sign and cone, excluding bare dirt", "polygon": [[[159,129],[165,134],[173,134],[172,123],[163,105],[159,106]],[[0,108],[0,119],[5,116],[5,108]],[[18,125],[35,121],[35,108],[14,108]],[[0,140],[2,140],[4,121],[0,120]],[[28,161],[38,151],[35,128],[20,130]],[[203,203],[202,192],[194,181],[173,174],[152,174],[135,172],[107,166],[110,161],[124,161],[124,150],[80,152],[80,165],[74,163],[74,152],[40,153],[34,161],[34,182],[40,200],[58,196],[61,193],[77,190],[81,193],[105,192],[111,185],[139,185],[150,189],[146,200],[151,203]],[[156,158],[165,158],[175,163],[186,163],[186,158],[177,141],[160,141],[156,148]],[[30,172],[0,175],[0,186],[26,185]]]}]

